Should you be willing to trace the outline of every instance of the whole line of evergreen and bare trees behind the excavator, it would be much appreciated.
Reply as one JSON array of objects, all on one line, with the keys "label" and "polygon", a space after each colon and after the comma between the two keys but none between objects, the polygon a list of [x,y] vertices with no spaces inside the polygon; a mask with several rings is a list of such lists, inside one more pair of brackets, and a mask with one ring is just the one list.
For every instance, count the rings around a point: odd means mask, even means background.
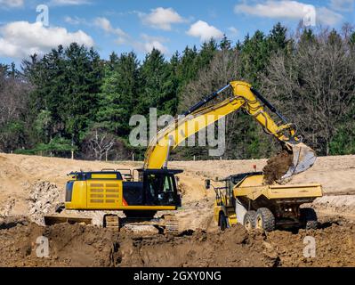
[{"label": "whole line of evergreen and bare trees behind the excavator", "polygon": [[[280,23],[242,42],[223,37],[187,46],[169,60],[157,49],[101,59],[73,43],[39,57],[0,64],[0,151],[77,159],[142,159],[128,142],[134,114],[177,115],[231,80],[245,80],[298,126],[319,155],[355,153],[355,32]],[[224,94],[228,96],[229,94]],[[249,115],[226,118],[223,159],[270,156],[275,142]],[[178,148],[173,159],[207,159],[206,148]]]}]

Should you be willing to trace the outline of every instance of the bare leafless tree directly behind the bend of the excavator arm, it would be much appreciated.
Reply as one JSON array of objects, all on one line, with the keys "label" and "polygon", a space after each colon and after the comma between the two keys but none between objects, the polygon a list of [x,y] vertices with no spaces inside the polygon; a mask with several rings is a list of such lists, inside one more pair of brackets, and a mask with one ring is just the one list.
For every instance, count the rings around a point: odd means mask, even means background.
[{"label": "bare leafless tree directly behind the bend of the excavator arm", "polygon": [[[223,85],[227,85],[233,80],[242,80],[240,77],[241,59],[236,50],[222,50],[214,55],[214,59],[210,65],[199,72],[198,79],[186,86],[180,110],[186,110],[191,105],[200,101],[207,94],[218,90]],[[232,90],[223,92],[216,101],[222,101],[227,97],[232,96]],[[214,101],[215,102],[215,101]],[[246,118],[247,117],[247,118]],[[231,113],[226,118],[226,151],[223,158],[228,159],[246,159],[250,155],[258,156],[260,148],[256,145],[256,141],[262,140],[271,141],[267,137],[262,137],[262,128],[258,128],[253,120],[248,115],[242,112]],[[252,137],[252,133],[257,138]],[[265,143],[263,150],[270,151],[272,143]],[[191,149],[191,148],[190,148]],[[192,151],[192,154],[206,156],[206,148],[199,151]],[[259,151],[259,152],[258,152]]]}]

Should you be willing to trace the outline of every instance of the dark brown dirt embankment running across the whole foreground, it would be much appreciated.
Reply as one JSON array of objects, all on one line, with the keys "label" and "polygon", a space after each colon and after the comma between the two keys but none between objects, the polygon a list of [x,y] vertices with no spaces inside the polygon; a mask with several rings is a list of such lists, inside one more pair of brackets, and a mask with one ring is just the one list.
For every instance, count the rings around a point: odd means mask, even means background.
[{"label": "dark brown dirt embankment running across the whole foreground", "polygon": [[[49,257],[36,256],[36,238],[49,240]],[[304,238],[316,241],[305,257]],[[42,227],[26,220],[0,225],[0,266],[354,266],[355,224],[331,222],[317,231],[186,231],[179,235],[110,232],[81,224]]]}]

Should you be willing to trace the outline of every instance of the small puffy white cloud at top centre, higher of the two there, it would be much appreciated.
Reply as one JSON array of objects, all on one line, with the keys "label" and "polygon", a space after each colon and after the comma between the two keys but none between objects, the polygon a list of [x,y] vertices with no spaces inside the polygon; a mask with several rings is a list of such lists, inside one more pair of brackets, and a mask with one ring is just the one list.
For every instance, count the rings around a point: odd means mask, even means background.
[{"label": "small puffy white cloud at top centre, higher of the two there", "polygon": [[178,12],[175,12],[173,8],[165,9],[158,7],[152,9],[149,14],[139,13],[139,16],[144,24],[165,30],[171,30],[172,24],[179,24],[186,21]]}]

